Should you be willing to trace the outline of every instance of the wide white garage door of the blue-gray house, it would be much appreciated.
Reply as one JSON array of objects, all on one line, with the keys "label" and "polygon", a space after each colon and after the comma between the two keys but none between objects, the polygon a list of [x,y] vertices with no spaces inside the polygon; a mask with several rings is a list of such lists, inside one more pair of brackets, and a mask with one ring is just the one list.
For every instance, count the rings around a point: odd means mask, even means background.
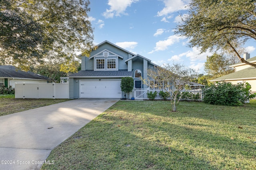
[{"label": "wide white garage door of the blue-gray house", "polygon": [[80,80],[80,98],[121,98],[120,80]]}]

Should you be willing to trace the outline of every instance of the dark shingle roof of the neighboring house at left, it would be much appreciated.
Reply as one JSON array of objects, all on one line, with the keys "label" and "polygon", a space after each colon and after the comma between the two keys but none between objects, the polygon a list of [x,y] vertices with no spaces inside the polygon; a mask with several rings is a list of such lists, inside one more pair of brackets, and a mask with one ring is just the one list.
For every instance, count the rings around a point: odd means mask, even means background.
[{"label": "dark shingle roof of the neighboring house at left", "polygon": [[46,76],[41,76],[34,72],[25,72],[22,70],[17,70],[15,66],[0,66],[0,77],[3,78],[30,78],[30,79],[42,79],[49,80]]}]

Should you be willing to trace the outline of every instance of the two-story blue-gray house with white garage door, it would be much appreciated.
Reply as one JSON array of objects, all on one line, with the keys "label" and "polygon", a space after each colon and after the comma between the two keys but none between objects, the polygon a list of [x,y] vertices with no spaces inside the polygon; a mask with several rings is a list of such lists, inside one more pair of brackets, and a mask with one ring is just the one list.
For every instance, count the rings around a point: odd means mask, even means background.
[{"label": "two-story blue-gray house with white garage door", "polygon": [[104,41],[90,53],[79,55],[81,71],[69,78],[70,99],[74,98],[124,98],[120,82],[122,77],[132,77],[135,88],[147,88],[140,76],[147,79],[148,68],[157,66],[141,55]]}]

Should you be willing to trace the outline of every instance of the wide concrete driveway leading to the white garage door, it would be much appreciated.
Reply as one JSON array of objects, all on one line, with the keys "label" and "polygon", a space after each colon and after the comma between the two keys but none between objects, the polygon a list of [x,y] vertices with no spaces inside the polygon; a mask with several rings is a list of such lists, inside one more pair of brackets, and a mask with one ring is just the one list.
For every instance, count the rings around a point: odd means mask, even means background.
[{"label": "wide concrete driveway leading to the white garage door", "polygon": [[117,101],[76,99],[0,116],[0,170],[40,169],[52,149]]}]

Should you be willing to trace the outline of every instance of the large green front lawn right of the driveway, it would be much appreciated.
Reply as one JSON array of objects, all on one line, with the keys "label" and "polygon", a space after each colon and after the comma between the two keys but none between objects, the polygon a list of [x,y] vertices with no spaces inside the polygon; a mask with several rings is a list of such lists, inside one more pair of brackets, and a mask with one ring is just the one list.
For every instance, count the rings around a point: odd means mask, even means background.
[{"label": "large green front lawn right of the driveway", "polygon": [[42,170],[254,170],[256,102],[119,101],[56,147]]}]

